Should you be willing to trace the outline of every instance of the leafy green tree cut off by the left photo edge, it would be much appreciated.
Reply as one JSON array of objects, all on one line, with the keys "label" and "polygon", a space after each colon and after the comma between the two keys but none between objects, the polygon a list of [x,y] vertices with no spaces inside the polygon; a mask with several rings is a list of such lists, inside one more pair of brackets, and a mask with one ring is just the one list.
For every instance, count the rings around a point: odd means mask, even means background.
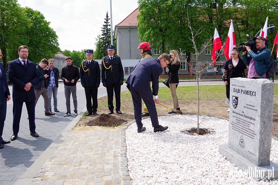
[{"label": "leafy green tree cut off by the left photo edge", "polygon": [[0,0],[0,48],[5,71],[8,61],[18,57],[18,47],[26,43],[25,30],[29,23],[17,0]]}]

